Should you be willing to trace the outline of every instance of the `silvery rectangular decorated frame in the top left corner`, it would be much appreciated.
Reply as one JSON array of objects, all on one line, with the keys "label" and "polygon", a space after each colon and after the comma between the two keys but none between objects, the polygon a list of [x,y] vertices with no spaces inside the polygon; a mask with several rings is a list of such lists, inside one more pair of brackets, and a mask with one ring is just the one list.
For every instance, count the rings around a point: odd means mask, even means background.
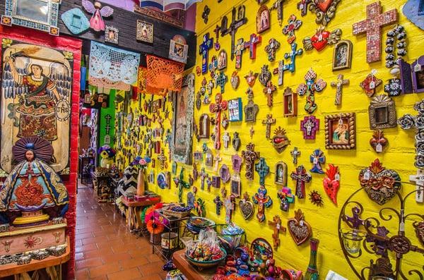
[{"label": "silvery rectangular decorated frame in the top left corner", "polygon": [[59,0],[6,0],[1,24],[20,25],[59,36],[57,18],[60,2]]}]

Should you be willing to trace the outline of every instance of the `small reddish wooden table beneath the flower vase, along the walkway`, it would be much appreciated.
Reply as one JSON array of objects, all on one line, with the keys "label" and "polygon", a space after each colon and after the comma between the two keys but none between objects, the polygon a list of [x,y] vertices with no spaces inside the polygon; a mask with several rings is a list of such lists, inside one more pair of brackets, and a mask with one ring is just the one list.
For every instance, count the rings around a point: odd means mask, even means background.
[{"label": "small reddish wooden table beneath the flower vase, along the walkway", "polygon": [[160,202],[160,196],[151,197],[143,201],[129,201],[126,197],[122,197],[122,203],[126,209],[126,226],[130,231],[140,231],[143,221],[141,221],[140,212],[146,206],[151,206]]}]

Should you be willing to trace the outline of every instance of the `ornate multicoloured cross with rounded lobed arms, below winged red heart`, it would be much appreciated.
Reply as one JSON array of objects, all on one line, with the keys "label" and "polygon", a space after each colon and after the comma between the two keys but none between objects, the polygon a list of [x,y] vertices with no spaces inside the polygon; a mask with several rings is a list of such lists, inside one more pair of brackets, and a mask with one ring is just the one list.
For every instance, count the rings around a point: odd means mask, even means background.
[{"label": "ornate multicoloured cross with rounded lobed arms, below winged red heart", "polygon": [[305,75],[305,83],[300,84],[298,87],[298,95],[303,96],[306,94],[306,104],[305,111],[309,114],[314,113],[317,109],[317,104],[315,103],[315,92],[322,92],[326,87],[326,82],[322,79],[317,79],[317,73],[315,73],[312,68],[307,71]]}]

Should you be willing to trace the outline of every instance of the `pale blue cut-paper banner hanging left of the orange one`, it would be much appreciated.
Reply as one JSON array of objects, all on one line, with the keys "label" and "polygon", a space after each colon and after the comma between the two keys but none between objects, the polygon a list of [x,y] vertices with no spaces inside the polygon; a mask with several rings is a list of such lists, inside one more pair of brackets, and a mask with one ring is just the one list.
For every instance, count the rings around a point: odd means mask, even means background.
[{"label": "pale blue cut-paper banner hanging left of the orange one", "polygon": [[140,54],[91,42],[88,83],[129,91],[137,81]]}]

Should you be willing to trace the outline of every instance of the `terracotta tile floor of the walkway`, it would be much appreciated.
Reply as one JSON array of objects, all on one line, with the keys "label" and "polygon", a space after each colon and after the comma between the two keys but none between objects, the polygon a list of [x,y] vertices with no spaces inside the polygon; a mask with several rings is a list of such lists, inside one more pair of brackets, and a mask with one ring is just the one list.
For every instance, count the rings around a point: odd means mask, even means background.
[{"label": "terracotta tile floor of the walkway", "polygon": [[130,233],[114,205],[98,203],[91,188],[78,189],[75,259],[77,280],[165,279],[147,239]]}]

